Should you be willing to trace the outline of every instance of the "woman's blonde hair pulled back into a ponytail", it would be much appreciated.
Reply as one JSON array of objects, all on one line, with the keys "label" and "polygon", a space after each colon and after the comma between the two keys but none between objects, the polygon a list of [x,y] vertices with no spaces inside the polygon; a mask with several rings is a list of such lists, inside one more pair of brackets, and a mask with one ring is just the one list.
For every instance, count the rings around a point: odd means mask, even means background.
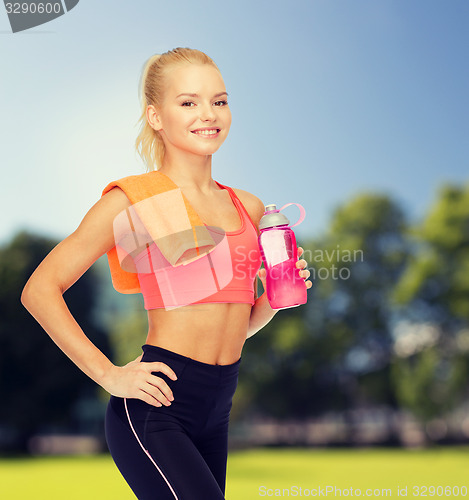
[{"label": "woman's blonde hair pulled back into a ponytail", "polygon": [[[135,149],[148,171],[158,170],[163,164],[165,146],[160,133],[154,130],[146,117],[147,107],[159,107],[164,98],[165,72],[181,64],[210,64],[219,70],[215,62],[204,52],[187,47],[177,47],[163,54],[155,54],[145,62],[139,82],[141,115],[138,122],[140,133],[135,140]],[[138,123],[137,122],[137,123]]]}]

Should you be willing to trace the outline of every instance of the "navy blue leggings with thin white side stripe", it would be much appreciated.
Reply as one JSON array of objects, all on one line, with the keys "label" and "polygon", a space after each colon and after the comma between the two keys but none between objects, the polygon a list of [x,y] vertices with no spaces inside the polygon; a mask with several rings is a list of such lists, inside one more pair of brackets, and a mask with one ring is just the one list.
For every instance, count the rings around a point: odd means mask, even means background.
[{"label": "navy blue leggings with thin white side stripe", "polygon": [[142,346],[141,362],[161,361],[177,375],[163,378],[170,406],[111,396],[106,442],[119,471],[139,500],[219,500],[225,496],[228,422],[241,358],[211,365]]}]

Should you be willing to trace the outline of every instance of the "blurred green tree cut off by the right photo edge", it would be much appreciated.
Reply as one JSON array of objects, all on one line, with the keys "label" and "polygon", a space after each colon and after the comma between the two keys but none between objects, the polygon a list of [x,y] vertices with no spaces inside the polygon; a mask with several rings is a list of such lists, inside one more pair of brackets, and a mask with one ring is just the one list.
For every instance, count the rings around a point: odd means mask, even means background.
[{"label": "blurred green tree cut off by the right photo edge", "polygon": [[393,299],[398,329],[393,385],[424,423],[469,396],[469,185],[441,187],[412,228],[414,255]]}]

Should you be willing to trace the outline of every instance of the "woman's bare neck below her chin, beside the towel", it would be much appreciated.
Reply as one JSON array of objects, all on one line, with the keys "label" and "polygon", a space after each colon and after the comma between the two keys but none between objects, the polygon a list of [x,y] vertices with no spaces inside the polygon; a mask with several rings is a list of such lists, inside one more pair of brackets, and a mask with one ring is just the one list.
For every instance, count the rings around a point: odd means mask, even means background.
[{"label": "woman's bare neck below her chin, beside the towel", "polygon": [[212,155],[194,155],[185,151],[166,150],[163,165],[158,169],[181,189],[200,194],[217,189],[212,179]]}]

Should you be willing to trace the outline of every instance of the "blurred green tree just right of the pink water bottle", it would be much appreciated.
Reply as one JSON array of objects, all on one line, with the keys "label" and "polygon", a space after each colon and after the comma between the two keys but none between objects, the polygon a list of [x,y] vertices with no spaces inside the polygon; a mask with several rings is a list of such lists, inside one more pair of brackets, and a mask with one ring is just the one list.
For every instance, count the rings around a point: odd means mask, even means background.
[{"label": "blurred green tree just right of the pink water bottle", "polygon": [[388,298],[409,251],[405,228],[392,199],[363,194],[335,211],[323,237],[301,245],[314,280],[308,303],[280,311],[248,341],[246,405],[278,418],[395,405]]}]

